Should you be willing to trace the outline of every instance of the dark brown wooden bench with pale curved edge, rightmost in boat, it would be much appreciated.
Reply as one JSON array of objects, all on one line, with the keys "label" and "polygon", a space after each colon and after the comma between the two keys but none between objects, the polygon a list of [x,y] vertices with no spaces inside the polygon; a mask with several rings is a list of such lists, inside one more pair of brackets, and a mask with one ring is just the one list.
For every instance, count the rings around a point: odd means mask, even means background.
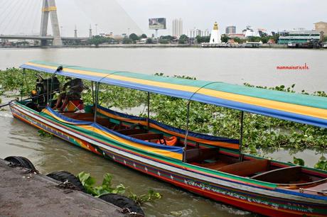
[{"label": "dark brown wooden bench with pale curved edge, rightmost in boat", "polygon": [[261,174],[254,175],[251,178],[263,182],[287,184],[301,179],[301,168],[301,166],[284,167],[263,172]]}]

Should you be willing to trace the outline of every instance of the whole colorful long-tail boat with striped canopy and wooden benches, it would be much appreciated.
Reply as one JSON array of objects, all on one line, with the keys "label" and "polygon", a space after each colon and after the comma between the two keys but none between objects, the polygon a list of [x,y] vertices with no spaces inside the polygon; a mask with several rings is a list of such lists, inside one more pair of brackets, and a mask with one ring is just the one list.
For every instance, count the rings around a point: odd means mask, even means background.
[{"label": "whole colorful long-tail boat with striped canopy and wooden benches", "polygon": [[[62,66],[62,67],[60,67]],[[244,112],[327,127],[327,98],[132,72],[31,61],[23,69],[87,79],[85,113],[12,101],[11,112],[81,148],[195,194],[266,216],[327,216],[327,172],[242,153]],[[194,133],[98,105],[99,84],[174,96],[240,111],[240,139]],[[93,88],[92,88],[93,89]],[[189,116],[188,103],[188,116]],[[149,109],[148,109],[149,112]]]}]

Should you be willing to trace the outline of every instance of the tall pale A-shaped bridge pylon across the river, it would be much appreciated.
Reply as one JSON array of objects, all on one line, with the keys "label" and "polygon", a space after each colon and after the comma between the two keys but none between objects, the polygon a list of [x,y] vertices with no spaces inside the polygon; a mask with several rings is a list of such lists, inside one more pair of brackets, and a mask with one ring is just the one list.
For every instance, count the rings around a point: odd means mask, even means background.
[{"label": "tall pale A-shaped bridge pylon across the river", "polygon": [[[60,47],[63,45],[63,41],[60,36],[55,0],[43,0],[40,36],[46,36],[48,33],[49,16],[53,31],[53,46]],[[47,45],[47,40],[41,40],[41,45]]]}]

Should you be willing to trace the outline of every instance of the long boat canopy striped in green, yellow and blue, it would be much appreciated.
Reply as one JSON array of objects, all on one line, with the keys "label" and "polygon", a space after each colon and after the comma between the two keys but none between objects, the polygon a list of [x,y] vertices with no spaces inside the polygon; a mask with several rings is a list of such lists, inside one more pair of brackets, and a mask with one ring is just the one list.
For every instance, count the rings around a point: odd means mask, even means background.
[{"label": "long boat canopy striped in green, yellow and blue", "polygon": [[[57,71],[60,66],[63,66],[63,69]],[[205,104],[327,128],[327,97],[35,60],[26,62],[21,65],[21,68],[200,101]]]}]

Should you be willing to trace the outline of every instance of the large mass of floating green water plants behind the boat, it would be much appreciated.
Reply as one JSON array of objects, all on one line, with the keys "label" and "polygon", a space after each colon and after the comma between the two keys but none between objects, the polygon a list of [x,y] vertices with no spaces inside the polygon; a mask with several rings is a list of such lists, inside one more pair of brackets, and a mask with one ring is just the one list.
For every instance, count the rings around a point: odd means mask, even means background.
[{"label": "large mass of floating green water plants behind the boat", "polygon": [[[26,70],[26,79],[22,82],[21,69],[7,69],[0,71],[1,91],[9,91],[23,88],[23,94],[27,94],[35,87],[36,72]],[[40,73],[42,74],[42,73]],[[42,74],[43,75],[43,74]],[[157,74],[164,76],[164,74]],[[44,74],[43,77],[46,77]],[[175,76],[178,77],[178,76]],[[186,79],[194,77],[182,76]],[[60,78],[60,81],[62,79]],[[92,87],[91,82],[85,81],[87,87]],[[251,84],[245,83],[246,86]],[[294,91],[295,84],[291,87],[284,85],[277,87],[258,87],[274,89],[277,91]],[[309,94],[305,90],[302,94]],[[326,97],[324,91],[316,91],[311,95]],[[92,89],[87,89],[82,94],[85,104],[92,104]],[[139,116],[146,116],[146,92],[122,87],[114,87],[107,84],[100,85],[99,103],[104,107],[129,109],[144,107]],[[166,123],[176,128],[186,129],[187,101],[176,99],[171,96],[151,94],[150,110],[151,118]],[[133,110],[132,110],[133,111]],[[240,138],[240,111],[202,104],[197,101],[191,102],[189,129],[199,133],[218,135],[227,138]],[[259,148],[294,148],[296,150],[327,148],[327,128],[318,128],[301,123],[284,121],[254,113],[245,113],[243,144],[245,151],[254,155]]]}]

